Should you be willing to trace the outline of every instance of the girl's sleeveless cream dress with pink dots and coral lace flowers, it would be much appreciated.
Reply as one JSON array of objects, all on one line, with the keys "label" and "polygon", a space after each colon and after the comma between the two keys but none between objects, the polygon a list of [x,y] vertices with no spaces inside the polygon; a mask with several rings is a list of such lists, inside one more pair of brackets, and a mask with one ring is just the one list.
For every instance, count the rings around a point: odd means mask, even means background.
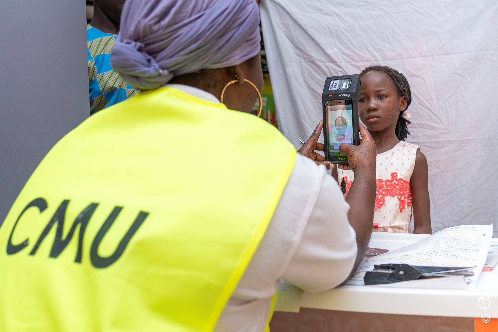
[{"label": "girl's sleeveless cream dress with pink dots and coral lace flowers", "polygon": [[[399,141],[392,149],[377,154],[377,190],[373,231],[407,233],[412,214],[410,178],[419,147]],[[346,195],[355,173],[338,169],[339,179],[346,181]]]}]

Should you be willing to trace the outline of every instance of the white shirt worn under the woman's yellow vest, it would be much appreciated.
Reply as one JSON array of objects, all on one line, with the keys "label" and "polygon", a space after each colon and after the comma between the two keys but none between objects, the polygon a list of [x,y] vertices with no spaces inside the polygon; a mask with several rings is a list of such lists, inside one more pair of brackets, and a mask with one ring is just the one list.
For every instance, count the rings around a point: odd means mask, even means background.
[{"label": "white shirt worn under the woman's yellow vest", "polygon": [[[166,86],[219,103],[200,89]],[[340,285],[350,274],[357,254],[348,210],[337,182],[325,167],[297,155],[266,233],[214,331],[263,331],[280,279],[309,292]]]}]

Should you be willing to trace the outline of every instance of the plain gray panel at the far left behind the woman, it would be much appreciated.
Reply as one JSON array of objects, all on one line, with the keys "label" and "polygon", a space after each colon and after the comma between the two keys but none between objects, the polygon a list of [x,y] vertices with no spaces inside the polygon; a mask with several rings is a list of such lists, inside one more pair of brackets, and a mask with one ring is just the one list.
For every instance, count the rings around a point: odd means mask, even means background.
[{"label": "plain gray panel at the far left behind the woman", "polygon": [[81,0],[0,1],[0,224],[43,156],[88,117]]}]

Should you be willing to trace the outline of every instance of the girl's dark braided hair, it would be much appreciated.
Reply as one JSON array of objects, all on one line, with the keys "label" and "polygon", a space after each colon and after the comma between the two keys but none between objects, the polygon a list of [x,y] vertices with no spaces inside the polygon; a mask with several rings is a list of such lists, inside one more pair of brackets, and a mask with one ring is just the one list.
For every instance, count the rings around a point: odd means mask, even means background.
[{"label": "girl's dark braided hair", "polygon": [[371,71],[376,71],[386,74],[391,79],[392,83],[394,84],[394,87],[396,87],[398,95],[401,97],[404,96],[406,98],[406,108],[403,111],[399,112],[398,122],[396,123],[396,128],[394,129],[396,137],[399,140],[405,140],[406,137],[408,137],[408,135],[410,134],[410,132],[408,131],[408,124],[410,124],[411,122],[405,119],[402,115],[408,109],[408,106],[410,106],[411,104],[410,85],[408,84],[408,81],[406,80],[406,77],[404,77],[403,74],[387,66],[367,67],[362,71],[360,77]]}]

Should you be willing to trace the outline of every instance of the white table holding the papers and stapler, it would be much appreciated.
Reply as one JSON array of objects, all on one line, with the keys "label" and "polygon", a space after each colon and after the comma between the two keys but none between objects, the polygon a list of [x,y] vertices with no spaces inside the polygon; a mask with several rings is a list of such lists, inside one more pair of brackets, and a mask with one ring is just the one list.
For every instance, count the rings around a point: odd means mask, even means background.
[{"label": "white table holding the papers and stapler", "polygon": [[[374,232],[369,247],[395,249],[412,244],[426,236],[428,235]],[[491,244],[498,244],[498,238],[493,238]],[[481,302],[478,303],[480,298]],[[483,309],[488,305],[489,308]],[[373,314],[476,318],[476,331],[478,331],[477,318],[481,320],[485,314],[494,319],[487,326],[498,323],[498,267],[491,272],[482,272],[477,287],[473,290],[340,286],[317,294],[304,292],[301,308]],[[279,306],[276,307],[276,311],[278,310]],[[498,332],[498,328],[482,331]]]}]

